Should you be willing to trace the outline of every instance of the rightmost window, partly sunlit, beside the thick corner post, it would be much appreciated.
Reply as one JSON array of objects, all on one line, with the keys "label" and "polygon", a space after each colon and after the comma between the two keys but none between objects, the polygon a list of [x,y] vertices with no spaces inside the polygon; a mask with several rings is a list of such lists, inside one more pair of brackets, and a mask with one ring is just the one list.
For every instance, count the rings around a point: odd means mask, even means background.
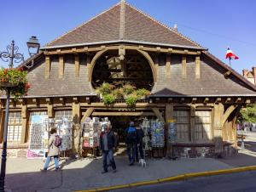
[{"label": "rightmost window, partly sunlit, beside the thick corner post", "polygon": [[212,139],[212,111],[195,111],[195,140],[208,141]]}]

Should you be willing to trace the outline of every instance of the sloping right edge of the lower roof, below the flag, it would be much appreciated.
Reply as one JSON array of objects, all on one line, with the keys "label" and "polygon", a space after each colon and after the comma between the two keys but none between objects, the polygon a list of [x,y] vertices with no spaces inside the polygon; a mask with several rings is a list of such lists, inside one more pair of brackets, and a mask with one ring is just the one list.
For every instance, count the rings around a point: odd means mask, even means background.
[{"label": "sloping right edge of the lower roof, below the flag", "polygon": [[206,54],[211,59],[215,60],[220,64],[222,67],[224,67],[226,70],[230,71],[233,75],[235,75],[237,78],[239,78],[242,82],[246,83],[247,86],[253,88],[254,91],[256,91],[256,86],[253,85],[252,82],[249,82],[244,76],[241,76],[240,73],[235,71],[233,68],[231,68],[229,65],[226,65],[222,60],[218,59],[216,56],[211,54],[209,51],[203,51],[204,54]]}]

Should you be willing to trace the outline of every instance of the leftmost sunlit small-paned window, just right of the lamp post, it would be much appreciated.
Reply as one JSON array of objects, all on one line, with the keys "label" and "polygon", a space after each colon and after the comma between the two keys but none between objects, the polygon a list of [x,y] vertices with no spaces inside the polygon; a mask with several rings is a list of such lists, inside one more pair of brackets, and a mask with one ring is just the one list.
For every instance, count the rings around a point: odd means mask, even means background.
[{"label": "leftmost sunlit small-paned window, just right of the lamp post", "polygon": [[7,140],[12,142],[20,142],[21,132],[21,112],[9,112]]}]

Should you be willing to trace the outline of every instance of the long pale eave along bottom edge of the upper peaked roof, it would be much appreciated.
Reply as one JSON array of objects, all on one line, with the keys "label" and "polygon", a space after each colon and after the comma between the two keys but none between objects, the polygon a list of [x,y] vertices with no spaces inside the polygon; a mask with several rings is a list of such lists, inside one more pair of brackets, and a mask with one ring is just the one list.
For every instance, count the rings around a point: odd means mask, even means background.
[{"label": "long pale eave along bottom edge of the upper peaked roof", "polygon": [[168,43],[160,43],[160,42],[140,42],[140,41],[132,41],[132,40],[113,40],[113,41],[105,41],[105,42],[83,42],[83,43],[74,43],[74,44],[65,44],[65,45],[56,45],[56,46],[48,46],[44,48],[40,48],[41,50],[52,49],[52,48],[73,48],[73,47],[81,47],[81,46],[90,46],[90,45],[99,45],[99,44],[112,44],[112,43],[136,43],[136,44],[144,44],[144,45],[154,45],[154,46],[163,46],[163,47],[172,47],[172,48],[190,48],[201,51],[207,51],[207,48],[202,47],[194,47],[194,46],[183,46],[177,44],[168,44]]}]

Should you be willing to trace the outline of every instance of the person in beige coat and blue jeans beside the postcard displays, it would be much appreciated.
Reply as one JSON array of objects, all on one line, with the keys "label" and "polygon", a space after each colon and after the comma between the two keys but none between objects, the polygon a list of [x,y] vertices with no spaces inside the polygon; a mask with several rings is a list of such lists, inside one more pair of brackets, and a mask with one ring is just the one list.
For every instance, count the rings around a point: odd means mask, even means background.
[{"label": "person in beige coat and blue jeans beside the postcard displays", "polygon": [[44,164],[44,169],[41,169],[41,171],[47,171],[49,167],[49,161],[51,158],[54,158],[55,161],[55,171],[59,170],[59,147],[55,146],[55,139],[57,134],[57,130],[55,128],[51,128],[50,130],[50,137],[48,141],[48,154],[47,154],[47,159]]}]

